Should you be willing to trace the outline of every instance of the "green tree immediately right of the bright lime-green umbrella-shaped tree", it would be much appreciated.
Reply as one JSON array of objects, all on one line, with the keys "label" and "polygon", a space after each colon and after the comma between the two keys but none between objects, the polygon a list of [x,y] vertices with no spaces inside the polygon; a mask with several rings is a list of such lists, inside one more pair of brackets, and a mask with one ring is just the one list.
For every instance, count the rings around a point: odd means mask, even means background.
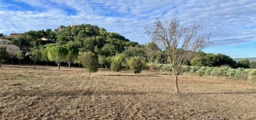
[{"label": "green tree immediately right of the bright lime-green umbrella-shaped tree", "polygon": [[78,57],[79,49],[74,44],[64,44],[63,47],[65,47],[68,51],[66,60],[68,63],[68,68],[70,68],[71,63],[73,63]]}]

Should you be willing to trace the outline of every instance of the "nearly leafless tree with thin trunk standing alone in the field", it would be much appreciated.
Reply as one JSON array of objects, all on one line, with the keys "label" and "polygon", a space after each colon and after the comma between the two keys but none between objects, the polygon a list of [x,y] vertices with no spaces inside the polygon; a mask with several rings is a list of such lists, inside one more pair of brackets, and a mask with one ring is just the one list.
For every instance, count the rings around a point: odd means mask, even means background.
[{"label": "nearly leafless tree with thin trunk standing alone in the field", "polygon": [[145,27],[148,37],[162,49],[173,69],[176,92],[178,88],[178,74],[185,62],[190,61],[195,52],[207,48],[211,43],[209,35],[202,34],[202,27],[195,23],[184,27],[177,19],[162,22],[156,19],[153,25]]}]

